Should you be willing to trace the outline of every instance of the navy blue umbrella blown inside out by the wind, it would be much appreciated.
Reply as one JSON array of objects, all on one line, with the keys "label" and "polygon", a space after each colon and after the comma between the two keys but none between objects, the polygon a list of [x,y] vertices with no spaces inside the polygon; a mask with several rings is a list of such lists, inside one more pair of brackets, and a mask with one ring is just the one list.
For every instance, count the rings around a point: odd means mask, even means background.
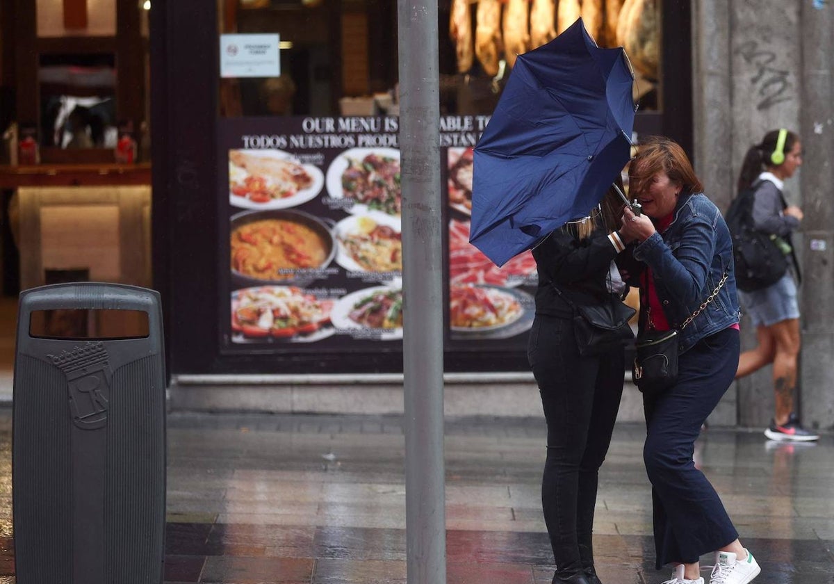
[{"label": "navy blue umbrella blown inside out by the wind", "polygon": [[475,147],[470,243],[500,266],[599,204],[631,156],[633,82],[581,18],[519,55]]}]

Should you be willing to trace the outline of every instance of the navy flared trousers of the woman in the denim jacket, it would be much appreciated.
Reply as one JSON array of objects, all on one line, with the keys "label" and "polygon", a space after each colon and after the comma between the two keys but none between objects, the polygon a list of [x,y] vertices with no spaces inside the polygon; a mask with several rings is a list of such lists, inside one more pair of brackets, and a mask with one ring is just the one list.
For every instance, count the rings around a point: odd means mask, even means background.
[{"label": "navy flared trousers of the woman in the denim jacket", "polygon": [[670,562],[694,563],[738,537],[692,456],[701,425],[736,375],[739,348],[735,329],[701,339],[680,355],[676,385],[656,398],[644,397],[643,460],[651,481],[658,569]]}]

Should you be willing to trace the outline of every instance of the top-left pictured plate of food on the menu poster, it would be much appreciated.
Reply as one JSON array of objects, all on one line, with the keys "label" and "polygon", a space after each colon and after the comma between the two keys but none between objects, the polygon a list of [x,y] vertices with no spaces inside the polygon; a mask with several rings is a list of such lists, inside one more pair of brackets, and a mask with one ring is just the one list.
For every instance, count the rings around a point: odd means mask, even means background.
[{"label": "top-left pictured plate of food on the menu poster", "polygon": [[229,150],[229,203],[243,209],[287,209],[314,199],[324,173],[283,150]]}]

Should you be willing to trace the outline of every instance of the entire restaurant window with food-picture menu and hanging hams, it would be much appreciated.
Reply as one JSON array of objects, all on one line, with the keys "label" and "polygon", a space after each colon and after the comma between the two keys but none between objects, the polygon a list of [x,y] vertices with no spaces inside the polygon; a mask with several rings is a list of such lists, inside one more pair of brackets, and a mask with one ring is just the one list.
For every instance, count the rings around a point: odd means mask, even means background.
[{"label": "entire restaurant window with food-picture menu and hanging hams", "polygon": [[[616,4],[439,5],[450,367],[463,370],[486,354],[523,365],[535,314],[531,254],[499,268],[469,242],[474,147],[516,53],[549,42],[582,16],[600,46],[625,45],[644,119],[662,116],[656,3],[625,0],[605,13],[604,6]],[[224,355],[333,355],[341,368],[398,367],[396,25],[390,0],[219,0],[217,231],[219,273],[228,275],[217,287],[217,319]],[[353,354],[373,355],[374,365],[344,357]]]}]

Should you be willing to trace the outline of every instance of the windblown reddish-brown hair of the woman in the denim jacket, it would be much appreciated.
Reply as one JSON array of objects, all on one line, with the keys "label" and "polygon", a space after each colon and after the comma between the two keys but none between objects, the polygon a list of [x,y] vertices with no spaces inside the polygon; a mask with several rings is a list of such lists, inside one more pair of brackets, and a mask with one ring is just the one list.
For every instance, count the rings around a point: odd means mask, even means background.
[{"label": "windblown reddish-brown hair of the woman in the denim jacket", "polygon": [[637,144],[637,154],[629,165],[629,192],[640,193],[657,173],[681,185],[681,192],[701,193],[704,186],[679,143],[662,136],[647,136]]}]

